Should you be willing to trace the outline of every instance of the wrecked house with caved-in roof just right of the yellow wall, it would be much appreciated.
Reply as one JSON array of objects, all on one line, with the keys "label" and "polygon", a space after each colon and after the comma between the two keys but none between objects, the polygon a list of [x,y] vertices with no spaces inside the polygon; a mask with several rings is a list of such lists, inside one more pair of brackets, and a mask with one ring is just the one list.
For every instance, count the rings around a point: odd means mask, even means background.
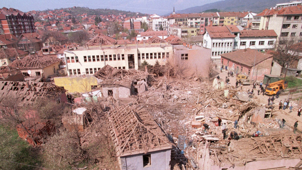
[{"label": "wrecked house with caved-in roof just right of the yellow wall", "polygon": [[105,98],[112,96],[114,99],[127,98],[145,92],[148,87],[148,80],[151,78],[147,72],[117,70],[109,65],[101,68],[94,76],[103,80],[99,84],[103,96]]}]

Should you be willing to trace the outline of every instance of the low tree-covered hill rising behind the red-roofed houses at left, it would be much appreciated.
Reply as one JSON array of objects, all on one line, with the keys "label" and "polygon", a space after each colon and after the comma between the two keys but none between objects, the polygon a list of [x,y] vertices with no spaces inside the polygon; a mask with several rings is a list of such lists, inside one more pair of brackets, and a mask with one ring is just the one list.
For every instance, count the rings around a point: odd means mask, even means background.
[{"label": "low tree-covered hill rising behind the red-roofed houses at left", "polygon": [[[72,16],[77,16],[78,14],[88,14],[88,15],[127,15],[127,17],[133,17],[137,16],[136,12],[130,12],[130,11],[120,11],[120,10],[115,10],[115,9],[90,9],[87,7],[76,7],[76,8],[60,8],[60,9],[55,9],[55,10],[64,10],[64,12],[68,12]],[[50,11],[45,10],[43,12]],[[144,16],[146,14],[139,13],[138,15]]]}]

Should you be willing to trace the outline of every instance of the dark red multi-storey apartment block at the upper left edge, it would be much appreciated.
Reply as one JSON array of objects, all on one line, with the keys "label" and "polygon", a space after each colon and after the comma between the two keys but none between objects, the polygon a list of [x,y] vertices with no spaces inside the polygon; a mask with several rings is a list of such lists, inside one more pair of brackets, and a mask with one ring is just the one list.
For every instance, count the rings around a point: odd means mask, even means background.
[{"label": "dark red multi-storey apartment block at the upper left edge", "polygon": [[34,33],[34,17],[14,8],[0,8],[0,34]]}]

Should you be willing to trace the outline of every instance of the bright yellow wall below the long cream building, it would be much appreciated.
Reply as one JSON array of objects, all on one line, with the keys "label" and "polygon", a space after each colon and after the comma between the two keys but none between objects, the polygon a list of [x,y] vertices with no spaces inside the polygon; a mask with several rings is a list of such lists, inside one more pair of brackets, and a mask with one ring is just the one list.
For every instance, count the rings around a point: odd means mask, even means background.
[{"label": "bright yellow wall below the long cream building", "polygon": [[53,77],[55,85],[64,87],[68,93],[84,93],[91,91],[91,86],[98,85],[93,76],[86,77]]}]

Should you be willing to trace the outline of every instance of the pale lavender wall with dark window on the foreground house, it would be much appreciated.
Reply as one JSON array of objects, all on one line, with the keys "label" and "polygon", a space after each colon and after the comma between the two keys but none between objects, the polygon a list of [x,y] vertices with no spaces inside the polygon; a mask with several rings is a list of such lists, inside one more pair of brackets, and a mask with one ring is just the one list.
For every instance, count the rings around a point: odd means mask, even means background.
[{"label": "pale lavender wall with dark window on the foreground house", "polygon": [[162,150],[148,153],[151,154],[151,165],[143,167],[143,155],[137,154],[120,157],[122,170],[169,170],[171,150]]}]

